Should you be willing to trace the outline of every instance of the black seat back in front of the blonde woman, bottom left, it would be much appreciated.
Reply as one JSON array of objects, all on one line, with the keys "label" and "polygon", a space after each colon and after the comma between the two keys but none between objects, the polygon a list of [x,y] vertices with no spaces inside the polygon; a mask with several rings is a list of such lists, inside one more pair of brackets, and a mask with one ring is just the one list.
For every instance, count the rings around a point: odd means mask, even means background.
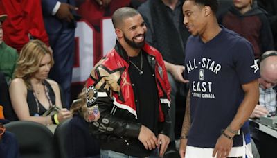
[{"label": "black seat back in front of the blonde woman, bottom left", "polygon": [[55,158],[53,133],[45,125],[33,121],[12,121],[6,130],[15,134],[22,158]]}]

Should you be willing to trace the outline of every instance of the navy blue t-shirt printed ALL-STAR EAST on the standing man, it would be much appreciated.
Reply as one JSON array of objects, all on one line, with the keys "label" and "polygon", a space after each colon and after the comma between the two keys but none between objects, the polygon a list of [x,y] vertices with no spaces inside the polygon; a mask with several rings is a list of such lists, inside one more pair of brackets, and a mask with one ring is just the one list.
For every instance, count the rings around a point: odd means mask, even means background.
[{"label": "navy blue t-shirt printed ALL-STAR EAST on the standing man", "polygon": [[[185,66],[191,93],[188,146],[214,148],[244,98],[242,85],[260,77],[253,48],[243,37],[222,27],[206,43],[199,36],[188,38]],[[233,146],[242,146],[242,134],[235,136]]]}]

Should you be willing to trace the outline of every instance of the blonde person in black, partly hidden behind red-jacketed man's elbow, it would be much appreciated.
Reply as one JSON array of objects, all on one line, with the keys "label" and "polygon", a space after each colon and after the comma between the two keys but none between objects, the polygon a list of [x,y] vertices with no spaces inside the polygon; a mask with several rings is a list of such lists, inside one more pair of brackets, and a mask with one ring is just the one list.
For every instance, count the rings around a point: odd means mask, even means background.
[{"label": "blonde person in black, partly hidden behind red-jacketed man's elbow", "polygon": [[71,105],[73,118],[69,122],[67,149],[69,157],[100,157],[100,146],[97,139],[89,134],[88,109],[86,94],[83,90],[78,101]]}]

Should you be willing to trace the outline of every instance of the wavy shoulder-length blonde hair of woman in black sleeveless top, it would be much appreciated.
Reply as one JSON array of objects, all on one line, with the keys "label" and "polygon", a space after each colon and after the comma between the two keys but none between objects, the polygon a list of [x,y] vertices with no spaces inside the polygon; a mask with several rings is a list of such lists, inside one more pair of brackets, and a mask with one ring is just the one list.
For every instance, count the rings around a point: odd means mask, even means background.
[{"label": "wavy shoulder-length blonde hair of woman in black sleeveless top", "polygon": [[53,55],[44,42],[40,40],[32,40],[21,50],[17,60],[17,68],[15,69],[15,78],[22,78],[28,89],[32,89],[30,85],[30,77],[39,70],[40,62],[46,54],[50,55],[50,64],[51,67],[53,67]]}]

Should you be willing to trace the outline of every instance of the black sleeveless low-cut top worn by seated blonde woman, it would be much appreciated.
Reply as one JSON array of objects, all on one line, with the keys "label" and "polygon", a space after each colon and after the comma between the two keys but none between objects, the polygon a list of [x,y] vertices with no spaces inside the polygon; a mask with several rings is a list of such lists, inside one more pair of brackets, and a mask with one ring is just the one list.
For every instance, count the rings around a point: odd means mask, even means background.
[{"label": "black sleeveless low-cut top worn by seated blonde woman", "polygon": [[[51,85],[49,84],[49,82],[47,82],[47,80],[44,80],[44,84],[46,85],[48,91],[49,91],[49,97],[51,99],[52,105],[55,105],[55,93],[51,87]],[[37,100],[39,103],[39,100]],[[27,103],[28,103],[28,107],[29,107],[29,112],[30,112],[30,116],[34,116],[35,114],[37,114],[37,102],[35,101],[35,96],[33,94],[33,90],[29,90],[27,89]],[[41,116],[42,114],[44,114],[44,112],[46,112],[47,109],[45,109],[45,107],[39,103],[39,116]]]}]

